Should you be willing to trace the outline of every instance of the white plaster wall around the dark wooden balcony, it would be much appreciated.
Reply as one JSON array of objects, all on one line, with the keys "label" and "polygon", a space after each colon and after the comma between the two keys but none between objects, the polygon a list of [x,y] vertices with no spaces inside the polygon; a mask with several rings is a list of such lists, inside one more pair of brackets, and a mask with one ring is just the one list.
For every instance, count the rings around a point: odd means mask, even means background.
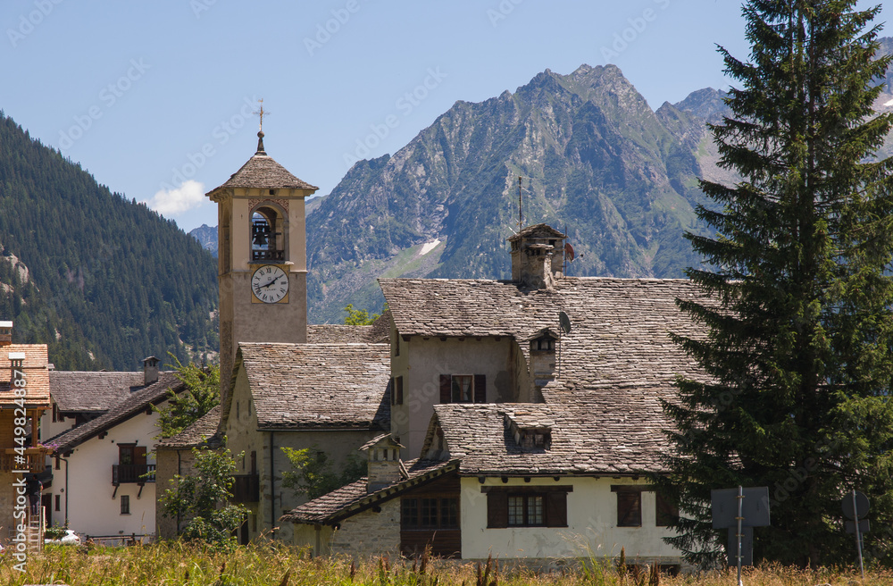
[{"label": "white plaster wall around the dark wooden balcony", "polygon": [[[67,517],[69,528],[81,535],[154,535],[154,481],[146,482],[139,497],[138,484],[121,484],[112,498],[112,465],[118,464],[118,444],[134,442],[146,446],[146,464],[155,464],[154,437],[160,432],[155,426],[157,420],[154,412],[136,414],[115,426],[104,439],[88,439],[75,448],[67,458],[67,485],[65,462],[53,471],[52,492],[60,495],[62,505],[61,511],[53,512],[54,523],[63,524]],[[130,497],[129,515],[121,515],[121,495]]]}]

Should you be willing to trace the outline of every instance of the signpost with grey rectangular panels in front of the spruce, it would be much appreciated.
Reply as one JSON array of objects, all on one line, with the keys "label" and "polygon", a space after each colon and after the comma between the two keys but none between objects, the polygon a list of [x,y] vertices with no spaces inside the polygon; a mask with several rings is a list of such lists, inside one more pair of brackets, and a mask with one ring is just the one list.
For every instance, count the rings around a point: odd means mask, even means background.
[{"label": "signpost with grey rectangular panels in front of the spruce", "polygon": [[[765,527],[769,520],[769,487],[760,486],[710,491],[710,505],[714,528],[729,528],[729,562],[734,557],[738,565],[738,586],[741,582],[741,565],[747,557],[747,565],[754,561],[753,527]],[[734,533],[732,533],[734,531]],[[732,556],[732,551],[735,555]]]}]

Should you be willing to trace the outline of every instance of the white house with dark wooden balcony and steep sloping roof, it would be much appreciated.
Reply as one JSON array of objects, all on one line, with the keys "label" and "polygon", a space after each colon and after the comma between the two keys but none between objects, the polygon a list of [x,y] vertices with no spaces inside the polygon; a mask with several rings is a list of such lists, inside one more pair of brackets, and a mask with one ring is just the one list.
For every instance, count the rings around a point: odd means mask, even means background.
[{"label": "white house with dark wooden balcony and steep sloping roof", "polygon": [[[186,385],[176,372],[144,361],[143,385],[96,419],[46,440],[54,451],[54,522],[81,535],[116,540],[155,533],[155,457],[158,413],[170,391]],[[123,539],[123,538],[121,538]]]}]

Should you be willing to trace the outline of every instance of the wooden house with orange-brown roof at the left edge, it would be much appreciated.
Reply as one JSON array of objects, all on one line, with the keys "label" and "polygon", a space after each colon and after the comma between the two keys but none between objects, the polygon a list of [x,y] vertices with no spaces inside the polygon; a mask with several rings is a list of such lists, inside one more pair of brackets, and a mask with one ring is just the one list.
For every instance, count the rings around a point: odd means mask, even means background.
[{"label": "wooden house with orange-brown roof at the left edge", "polygon": [[40,514],[30,515],[17,487],[28,473],[45,470],[49,450],[38,443],[38,427],[49,407],[46,344],[13,344],[13,322],[0,322],[0,542],[6,546],[24,539],[25,524],[37,526],[29,539],[40,539]]}]

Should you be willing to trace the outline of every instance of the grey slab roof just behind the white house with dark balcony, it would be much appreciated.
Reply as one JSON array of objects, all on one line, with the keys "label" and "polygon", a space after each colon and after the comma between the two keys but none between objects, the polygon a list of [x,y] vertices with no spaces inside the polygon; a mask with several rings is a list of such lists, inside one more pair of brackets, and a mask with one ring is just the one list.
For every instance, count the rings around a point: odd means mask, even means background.
[{"label": "grey slab roof just behind the white house with dark balcony", "polygon": [[59,411],[105,413],[115,403],[143,387],[144,374],[50,371],[50,395]]}]

